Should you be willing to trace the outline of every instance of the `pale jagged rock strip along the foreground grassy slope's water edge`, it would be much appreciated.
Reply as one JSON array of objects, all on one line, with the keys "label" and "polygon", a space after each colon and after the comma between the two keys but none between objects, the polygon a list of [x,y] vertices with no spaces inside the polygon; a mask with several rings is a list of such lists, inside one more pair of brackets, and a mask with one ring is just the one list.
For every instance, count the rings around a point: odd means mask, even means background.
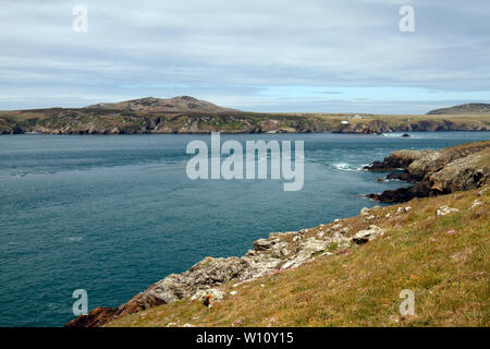
[{"label": "pale jagged rock strip along the foreground grassy slope's water edge", "polygon": [[[368,222],[378,208],[363,208],[360,215]],[[100,327],[122,316],[184,298],[201,300],[206,294],[211,294],[217,302],[225,298],[219,289],[223,284],[234,281],[235,286],[240,286],[260,277],[294,269],[317,257],[332,255],[335,251],[345,252],[353,245],[367,243],[382,234],[384,229],[375,225],[355,231],[347,221],[340,219],[315,230],[274,232],[268,239],[255,241],[254,249],[242,257],[206,257],[187,272],[171,274],[151,285],[119,308],[96,308],[65,326]]]}]

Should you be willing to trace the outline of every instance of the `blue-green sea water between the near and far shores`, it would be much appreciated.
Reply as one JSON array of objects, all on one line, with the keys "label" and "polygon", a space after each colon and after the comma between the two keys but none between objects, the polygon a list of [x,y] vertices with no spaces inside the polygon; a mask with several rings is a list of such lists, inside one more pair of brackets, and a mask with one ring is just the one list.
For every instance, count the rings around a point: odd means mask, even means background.
[{"label": "blue-green sea water between the near and far shores", "polygon": [[[489,140],[489,132],[221,135],[305,143],[302,191],[281,180],[189,180],[185,148],[209,135],[0,136],[0,326],[61,326],[72,292],[118,306],[203,257],[242,255],[272,231],[373,206],[404,183],[362,167],[402,148]],[[406,185],[406,184],[405,184]]]}]

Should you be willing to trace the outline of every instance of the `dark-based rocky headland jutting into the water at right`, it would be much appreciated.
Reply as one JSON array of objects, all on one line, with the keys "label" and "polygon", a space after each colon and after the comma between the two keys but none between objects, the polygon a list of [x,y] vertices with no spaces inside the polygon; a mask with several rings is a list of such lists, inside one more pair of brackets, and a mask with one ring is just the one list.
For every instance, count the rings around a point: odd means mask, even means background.
[{"label": "dark-based rocky headland jutting into the water at right", "polygon": [[[414,197],[434,196],[482,186],[489,178],[490,141],[469,143],[439,152],[393,153],[383,161],[366,167],[368,170],[392,170],[403,165],[401,173],[390,173],[389,179],[415,181],[411,188],[369,194],[368,197],[387,203],[409,201]],[[401,160],[401,158],[403,160]]]}]

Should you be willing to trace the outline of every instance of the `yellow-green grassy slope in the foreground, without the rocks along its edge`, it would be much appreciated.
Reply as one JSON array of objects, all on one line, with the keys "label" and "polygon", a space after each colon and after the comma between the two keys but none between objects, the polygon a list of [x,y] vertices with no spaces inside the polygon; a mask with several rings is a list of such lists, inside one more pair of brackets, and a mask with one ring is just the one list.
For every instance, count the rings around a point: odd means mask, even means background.
[{"label": "yellow-green grassy slope in the foreground, without the rocks along its edge", "polygon": [[[223,285],[237,294],[211,309],[186,299],[108,325],[489,326],[490,190],[481,196],[477,192],[378,208],[369,222],[360,216],[343,219],[353,231],[375,224],[387,233],[294,270],[236,288]],[[475,200],[482,204],[469,209]],[[460,212],[437,217],[444,204]],[[412,207],[408,213],[396,214],[397,207],[406,206]],[[414,316],[399,313],[402,289],[415,292]]]}]

